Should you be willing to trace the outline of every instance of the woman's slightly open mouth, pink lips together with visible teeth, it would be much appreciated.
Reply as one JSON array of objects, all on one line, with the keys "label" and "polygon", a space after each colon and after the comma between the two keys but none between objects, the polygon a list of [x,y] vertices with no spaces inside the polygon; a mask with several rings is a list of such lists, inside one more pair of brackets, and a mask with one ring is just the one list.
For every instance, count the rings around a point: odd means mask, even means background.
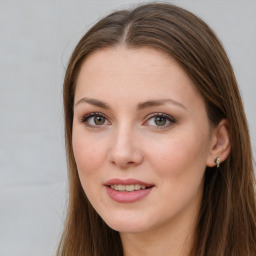
[{"label": "woman's slightly open mouth, pink lips together with visible teeth", "polygon": [[109,197],[119,203],[132,203],[146,197],[154,185],[136,179],[111,179],[105,184]]}]

